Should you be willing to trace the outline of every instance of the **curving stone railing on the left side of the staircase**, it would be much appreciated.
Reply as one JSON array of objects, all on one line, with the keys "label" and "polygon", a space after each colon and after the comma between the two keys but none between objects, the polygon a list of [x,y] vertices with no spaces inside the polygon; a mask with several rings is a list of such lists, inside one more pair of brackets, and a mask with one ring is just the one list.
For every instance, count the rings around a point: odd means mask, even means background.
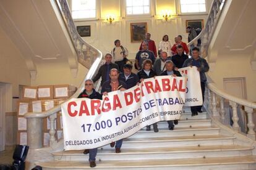
[{"label": "curving stone railing on the left side of the staircase", "polygon": [[[72,19],[67,0],[56,0],[55,2],[56,6],[59,8],[60,14],[62,15],[62,19],[66,25],[66,28],[69,31],[69,36],[74,45],[78,62],[89,69],[87,75],[85,75],[83,78],[75,94],[66,100],[68,101],[72,98],[76,98],[80,92],[83,91],[85,80],[93,78],[93,76],[96,74],[96,71],[101,64],[102,53],[90,44],[87,44],[87,42],[85,42],[77,33],[77,29],[74,20]],[[99,87],[98,84],[96,84],[96,87]],[[43,118],[46,117],[49,118],[50,122],[49,144],[52,146],[57,142],[54,123],[59,111],[61,111],[61,105],[51,108],[51,110],[48,111],[25,114],[25,118],[27,118],[27,143],[30,148],[43,147]]]}]

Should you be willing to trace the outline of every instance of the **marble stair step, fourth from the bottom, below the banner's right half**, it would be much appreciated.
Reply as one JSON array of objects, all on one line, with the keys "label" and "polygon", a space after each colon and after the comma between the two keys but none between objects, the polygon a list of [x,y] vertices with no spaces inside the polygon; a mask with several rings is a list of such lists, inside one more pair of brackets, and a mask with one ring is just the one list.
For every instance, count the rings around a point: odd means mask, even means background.
[{"label": "marble stair step, fourth from the bottom, below the banner's right half", "polygon": [[212,127],[212,126],[192,126],[192,127],[174,127],[174,130],[171,131],[168,127],[158,128],[158,132],[154,132],[153,128],[151,127],[151,131],[146,131],[145,128],[141,129],[140,131],[136,132],[130,137],[164,137],[164,136],[198,136],[198,135],[208,135],[208,134],[219,134],[220,128],[219,127]]}]

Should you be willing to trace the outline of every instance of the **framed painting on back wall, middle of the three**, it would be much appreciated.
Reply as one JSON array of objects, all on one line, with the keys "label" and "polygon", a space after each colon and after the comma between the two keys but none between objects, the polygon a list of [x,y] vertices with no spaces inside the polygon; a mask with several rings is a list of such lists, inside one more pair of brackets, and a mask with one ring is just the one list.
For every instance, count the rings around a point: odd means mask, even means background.
[{"label": "framed painting on back wall, middle of the three", "polygon": [[145,39],[145,34],[148,31],[147,22],[130,23],[130,41],[142,42]]}]

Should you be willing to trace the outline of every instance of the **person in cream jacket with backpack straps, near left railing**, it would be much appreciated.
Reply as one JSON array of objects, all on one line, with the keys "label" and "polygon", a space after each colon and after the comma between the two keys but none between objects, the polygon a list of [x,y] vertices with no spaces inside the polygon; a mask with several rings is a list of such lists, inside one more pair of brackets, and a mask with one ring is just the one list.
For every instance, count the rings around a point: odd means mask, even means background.
[{"label": "person in cream jacket with backpack straps, near left railing", "polygon": [[111,54],[113,55],[114,63],[116,63],[119,67],[119,71],[122,73],[124,72],[124,65],[128,61],[127,56],[129,52],[127,51],[126,47],[121,46],[121,41],[119,39],[116,39],[114,41],[114,49],[111,51]]}]

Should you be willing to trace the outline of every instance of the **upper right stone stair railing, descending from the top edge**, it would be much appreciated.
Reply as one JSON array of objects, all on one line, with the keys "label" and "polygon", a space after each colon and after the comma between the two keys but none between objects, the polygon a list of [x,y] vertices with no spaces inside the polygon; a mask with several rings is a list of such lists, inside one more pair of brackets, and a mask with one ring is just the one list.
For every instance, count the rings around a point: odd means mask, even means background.
[{"label": "upper right stone stair railing, descending from the top edge", "polygon": [[192,41],[187,44],[187,47],[190,48],[192,44],[197,44],[198,39],[201,39],[200,51],[202,57],[206,57],[208,55],[209,42],[211,41],[213,31],[215,30],[215,27],[220,18],[221,10],[225,4],[224,2],[225,0],[213,0],[209,10],[207,22],[205,23],[205,27],[196,38],[192,39]]}]

